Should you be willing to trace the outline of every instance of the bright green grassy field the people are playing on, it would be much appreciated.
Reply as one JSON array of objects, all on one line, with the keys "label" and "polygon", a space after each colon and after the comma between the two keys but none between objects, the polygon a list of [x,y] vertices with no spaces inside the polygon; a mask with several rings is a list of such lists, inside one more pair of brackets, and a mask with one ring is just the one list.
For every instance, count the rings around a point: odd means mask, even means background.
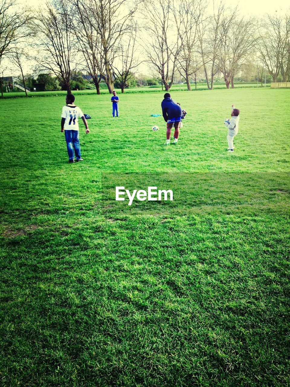
[{"label": "bright green grassy field the people are playing on", "polygon": [[[176,147],[162,92],[119,94],[118,118],[78,92],[75,164],[54,94],[0,101],[0,384],[290,385],[290,90],[172,91]],[[148,182],[177,200],[108,195]]]}]

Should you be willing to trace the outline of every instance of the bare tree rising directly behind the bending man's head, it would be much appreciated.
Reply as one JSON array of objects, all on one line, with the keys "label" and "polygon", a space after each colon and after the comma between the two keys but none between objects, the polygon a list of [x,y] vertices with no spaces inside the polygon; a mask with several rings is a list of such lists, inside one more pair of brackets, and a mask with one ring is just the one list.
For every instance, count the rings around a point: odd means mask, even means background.
[{"label": "bare tree rising directly behind the bending man's head", "polygon": [[171,24],[171,5],[171,0],[148,0],[142,10],[148,34],[145,47],[148,62],[160,75],[166,91],[174,81],[181,50],[176,25]]}]

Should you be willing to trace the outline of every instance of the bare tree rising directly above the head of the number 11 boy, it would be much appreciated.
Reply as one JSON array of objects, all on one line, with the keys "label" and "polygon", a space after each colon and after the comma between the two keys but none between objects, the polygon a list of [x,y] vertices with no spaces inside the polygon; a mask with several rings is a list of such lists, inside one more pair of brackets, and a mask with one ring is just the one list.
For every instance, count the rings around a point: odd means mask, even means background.
[{"label": "bare tree rising directly above the head of the number 11 boy", "polygon": [[[46,9],[38,12],[39,56],[38,70],[54,74],[68,94],[77,73],[76,38],[72,34],[73,12],[65,0],[46,3]],[[41,55],[41,53],[43,55]]]}]

